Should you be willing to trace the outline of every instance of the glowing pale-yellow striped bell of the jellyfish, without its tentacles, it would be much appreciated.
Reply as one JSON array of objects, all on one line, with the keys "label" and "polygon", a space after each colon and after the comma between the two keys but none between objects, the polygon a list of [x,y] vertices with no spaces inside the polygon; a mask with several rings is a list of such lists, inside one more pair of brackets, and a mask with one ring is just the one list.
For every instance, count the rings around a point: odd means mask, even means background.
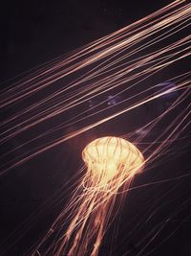
[{"label": "glowing pale-yellow striped bell of the jellyfish, without its tentacles", "polygon": [[102,137],[86,146],[82,158],[92,179],[91,186],[114,184],[117,188],[138,173],[143,155],[129,141],[118,137]]}]

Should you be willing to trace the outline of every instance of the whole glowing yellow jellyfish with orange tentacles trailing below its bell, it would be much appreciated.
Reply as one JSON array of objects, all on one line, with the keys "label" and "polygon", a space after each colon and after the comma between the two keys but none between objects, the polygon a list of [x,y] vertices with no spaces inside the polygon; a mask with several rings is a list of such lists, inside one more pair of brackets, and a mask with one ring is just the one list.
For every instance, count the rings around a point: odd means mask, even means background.
[{"label": "whole glowing yellow jellyfish with orange tentacles trailing below its bell", "polygon": [[[144,165],[138,148],[119,137],[102,137],[82,151],[87,172],[52,230],[59,229],[53,255],[97,256],[111,221],[118,189],[130,184]],[[60,226],[66,225],[64,234]],[[55,241],[55,240],[54,240]],[[47,253],[49,254],[50,248]],[[38,250],[39,252],[39,250]]]}]

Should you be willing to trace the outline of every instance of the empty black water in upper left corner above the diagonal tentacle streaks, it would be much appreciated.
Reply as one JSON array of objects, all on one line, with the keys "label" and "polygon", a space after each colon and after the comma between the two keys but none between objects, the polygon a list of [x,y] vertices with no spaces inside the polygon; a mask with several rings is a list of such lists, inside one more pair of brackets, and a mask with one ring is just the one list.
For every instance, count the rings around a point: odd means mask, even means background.
[{"label": "empty black water in upper left corner above the diagonal tentacle streaks", "polygon": [[8,1],[1,8],[5,78],[83,46],[171,1]]}]

